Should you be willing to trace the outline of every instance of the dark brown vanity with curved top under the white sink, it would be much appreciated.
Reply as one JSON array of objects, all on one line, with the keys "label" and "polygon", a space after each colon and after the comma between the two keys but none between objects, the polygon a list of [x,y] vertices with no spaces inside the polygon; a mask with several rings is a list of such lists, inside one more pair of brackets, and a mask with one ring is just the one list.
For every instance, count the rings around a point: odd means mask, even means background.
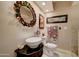
[{"label": "dark brown vanity with curved top under the white sink", "polygon": [[30,48],[25,45],[23,49],[15,50],[17,57],[41,57],[43,54],[43,44],[41,43],[37,48]]}]

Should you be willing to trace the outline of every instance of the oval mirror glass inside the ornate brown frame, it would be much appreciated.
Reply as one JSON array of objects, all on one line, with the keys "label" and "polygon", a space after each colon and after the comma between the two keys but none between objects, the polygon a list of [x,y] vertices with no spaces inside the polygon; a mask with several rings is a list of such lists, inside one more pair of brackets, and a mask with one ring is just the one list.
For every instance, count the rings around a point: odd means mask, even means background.
[{"label": "oval mirror glass inside the ornate brown frame", "polygon": [[21,17],[24,19],[24,21],[27,23],[30,23],[30,21],[32,21],[33,19],[30,9],[28,9],[26,6],[22,6],[20,8],[20,14],[21,14]]}]

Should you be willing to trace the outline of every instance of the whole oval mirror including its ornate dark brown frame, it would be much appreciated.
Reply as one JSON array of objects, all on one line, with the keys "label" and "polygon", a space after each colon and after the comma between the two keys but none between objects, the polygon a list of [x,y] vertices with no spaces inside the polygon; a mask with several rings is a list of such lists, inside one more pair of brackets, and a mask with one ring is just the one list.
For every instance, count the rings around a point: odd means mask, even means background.
[{"label": "whole oval mirror including its ornate dark brown frame", "polygon": [[27,1],[16,1],[14,3],[16,18],[23,26],[33,27],[36,23],[36,14],[31,4]]}]

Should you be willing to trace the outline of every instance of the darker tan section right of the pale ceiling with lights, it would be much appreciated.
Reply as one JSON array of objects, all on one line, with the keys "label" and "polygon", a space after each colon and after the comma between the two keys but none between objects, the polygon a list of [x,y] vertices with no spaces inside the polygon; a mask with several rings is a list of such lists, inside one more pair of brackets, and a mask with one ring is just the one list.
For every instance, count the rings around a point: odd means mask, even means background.
[{"label": "darker tan section right of the pale ceiling with lights", "polygon": [[71,7],[72,1],[56,1],[53,2],[54,11],[63,11]]}]

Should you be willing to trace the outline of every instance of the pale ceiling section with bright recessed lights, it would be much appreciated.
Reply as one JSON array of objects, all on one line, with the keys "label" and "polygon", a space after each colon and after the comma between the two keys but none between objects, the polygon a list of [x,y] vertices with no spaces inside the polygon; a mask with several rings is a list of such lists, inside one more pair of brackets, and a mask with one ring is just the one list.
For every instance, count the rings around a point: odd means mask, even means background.
[{"label": "pale ceiling section with bright recessed lights", "polygon": [[52,1],[34,1],[34,3],[44,12],[52,12],[53,4]]}]

